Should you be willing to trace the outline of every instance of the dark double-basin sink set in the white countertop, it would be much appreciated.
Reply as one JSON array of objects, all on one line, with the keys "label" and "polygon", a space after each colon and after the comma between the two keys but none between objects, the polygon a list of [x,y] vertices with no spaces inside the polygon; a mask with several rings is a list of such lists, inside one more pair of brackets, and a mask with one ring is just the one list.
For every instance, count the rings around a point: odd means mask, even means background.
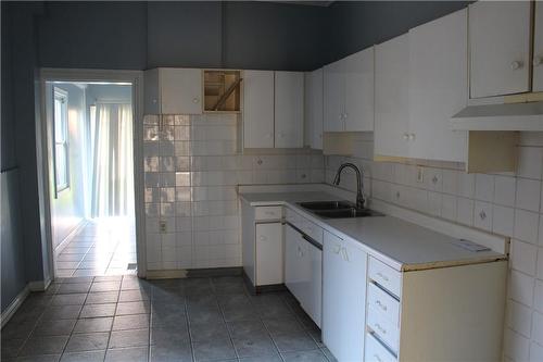
[{"label": "dark double-basin sink set in the white countertop", "polygon": [[298,204],[323,219],[383,216],[383,214],[370,209],[356,208],[354,203],[349,201],[310,201]]}]

